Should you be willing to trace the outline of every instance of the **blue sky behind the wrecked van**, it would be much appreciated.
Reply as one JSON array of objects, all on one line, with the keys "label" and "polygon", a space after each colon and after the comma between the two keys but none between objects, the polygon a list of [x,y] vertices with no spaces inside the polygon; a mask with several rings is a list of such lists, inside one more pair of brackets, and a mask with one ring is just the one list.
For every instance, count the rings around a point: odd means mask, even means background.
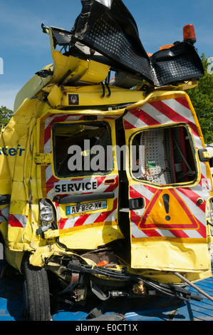
[{"label": "blue sky behind the wrecked van", "polygon": [[[182,27],[194,24],[199,55],[213,56],[212,0],[123,0],[135,18],[147,52],[182,41]],[[16,93],[33,74],[52,63],[48,35],[41,24],[71,30],[80,14],[80,0],[1,0],[0,106],[13,109]],[[1,73],[1,68],[0,68]]]}]

